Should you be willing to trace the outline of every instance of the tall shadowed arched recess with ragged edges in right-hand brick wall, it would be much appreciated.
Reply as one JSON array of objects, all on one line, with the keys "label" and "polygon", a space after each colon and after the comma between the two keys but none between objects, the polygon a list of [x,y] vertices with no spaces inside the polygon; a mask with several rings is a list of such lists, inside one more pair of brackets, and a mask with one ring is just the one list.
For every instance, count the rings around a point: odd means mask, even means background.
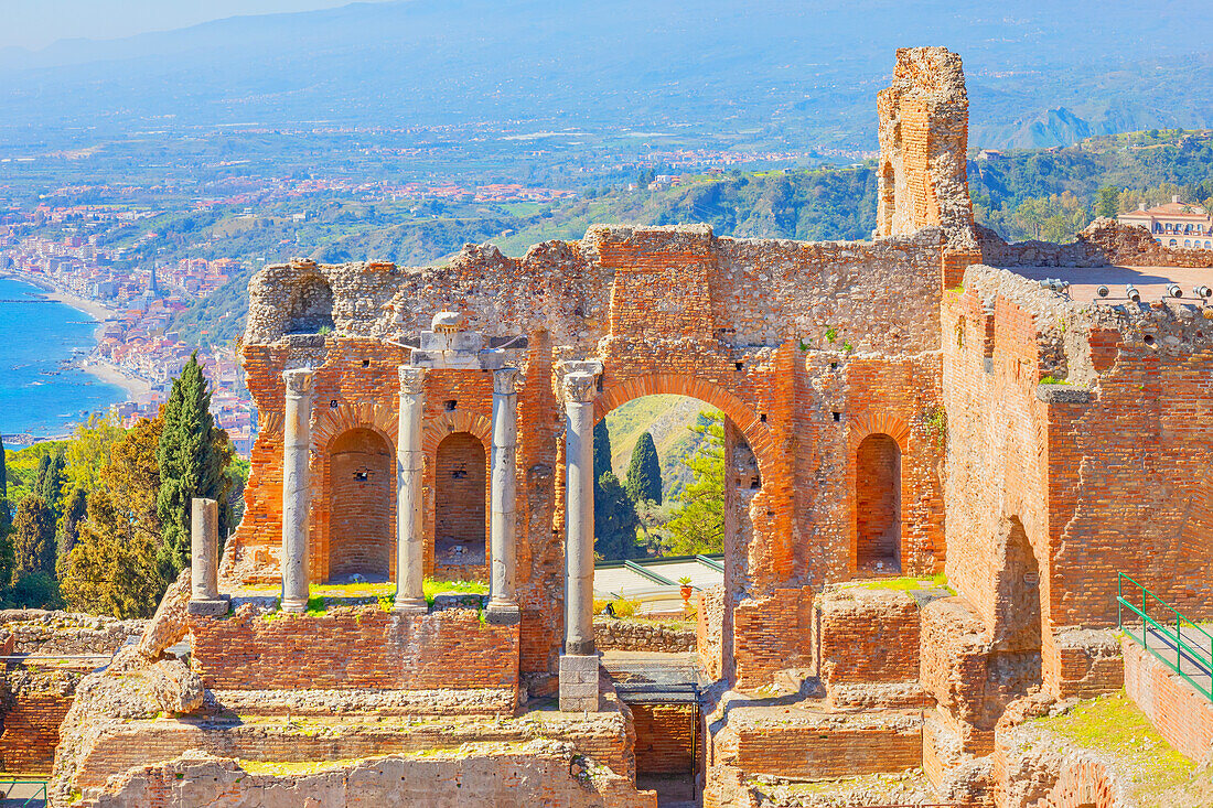
[{"label": "tall shadowed arched recess with ragged edges in right-hand brick wall", "polygon": [[991,668],[1004,699],[1041,684],[1041,567],[1019,517],[998,525]]}]

